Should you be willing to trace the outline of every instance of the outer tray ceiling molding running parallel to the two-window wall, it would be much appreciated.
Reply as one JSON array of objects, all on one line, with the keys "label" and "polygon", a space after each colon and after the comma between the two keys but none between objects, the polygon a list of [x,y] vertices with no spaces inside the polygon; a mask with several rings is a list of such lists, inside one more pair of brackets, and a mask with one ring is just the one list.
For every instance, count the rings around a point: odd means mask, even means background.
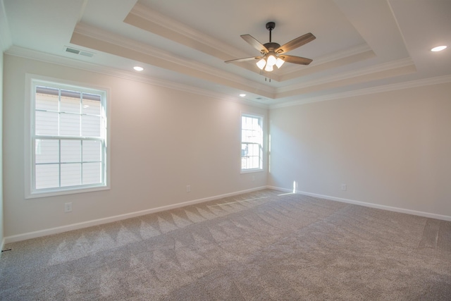
[{"label": "outer tray ceiling molding running parallel to the two-window wall", "polygon": [[[260,84],[259,82],[254,82],[253,80],[247,80],[238,75],[233,75],[232,73],[228,73],[223,70],[218,70],[211,66],[188,61],[187,59],[182,59],[180,56],[174,56],[173,54],[168,53],[167,51],[163,51],[161,49],[157,49],[148,44],[144,44],[141,42],[137,42],[133,39],[128,39],[121,35],[115,35],[111,32],[106,32],[105,30],[101,30],[98,27],[92,27],[90,25],[84,23],[78,23],[75,27],[74,34],[90,37],[92,39],[98,39],[102,42],[106,42],[109,44],[114,44],[119,47],[124,47],[126,49],[130,49],[132,51],[139,51],[146,56],[153,57],[154,59],[168,61],[173,64],[177,64],[183,66],[185,68],[190,68],[192,70],[197,70],[202,73],[206,73],[212,75],[216,78],[222,78],[223,80],[229,80],[231,82],[236,82],[239,85],[245,85],[249,87],[248,92],[252,92],[254,90],[259,90],[261,92],[265,92],[263,96],[269,97],[268,94],[274,95],[276,94],[276,89],[273,87],[268,87],[266,85]],[[80,45],[86,47],[86,45]],[[92,47],[88,47],[92,48]],[[102,49],[97,49],[99,51],[104,51]],[[107,51],[104,51],[107,52]],[[153,55],[155,54],[155,55]],[[128,58],[132,59],[132,58]],[[146,62],[144,62],[146,63]],[[178,70],[174,70],[180,72]],[[271,97],[270,97],[271,98]],[[272,97],[273,98],[273,97]]]}]

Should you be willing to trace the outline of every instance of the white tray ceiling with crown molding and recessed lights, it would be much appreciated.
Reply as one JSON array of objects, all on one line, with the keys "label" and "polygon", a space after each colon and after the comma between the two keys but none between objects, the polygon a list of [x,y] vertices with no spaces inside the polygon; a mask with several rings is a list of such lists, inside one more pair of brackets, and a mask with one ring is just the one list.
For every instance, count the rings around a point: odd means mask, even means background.
[{"label": "white tray ceiling with crown molding and recessed lights", "polygon": [[[260,106],[451,82],[450,0],[0,1],[8,54],[230,99],[245,93],[242,101]],[[260,74],[254,61],[224,63],[259,55],[240,35],[264,44],[269,21],[279,44],[316,36],[288,53],[313,59],[309,66]]]}]

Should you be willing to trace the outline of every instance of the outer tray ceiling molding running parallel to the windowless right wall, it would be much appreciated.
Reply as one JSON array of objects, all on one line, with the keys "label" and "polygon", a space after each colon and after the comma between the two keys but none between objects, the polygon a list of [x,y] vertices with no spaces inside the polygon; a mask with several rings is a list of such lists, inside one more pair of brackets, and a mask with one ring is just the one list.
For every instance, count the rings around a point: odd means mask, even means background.
[{"label": "outer tray ceiling molding running parallel to the windowless right wall", "polygon": [[323,84],[326,84],[329,82],[337,82],[339,80],[347,80],[350,78],[358,78],[363,75],[369,75],[372,73],[378,73],[381,71],[387,71],[387,70],[392,70],[392,69],[397,69],[397,68],[404,68],[404,67],[408,67],[408,66],[414,66],[414,62],[412,61],[412,59],[410,59],[410,58],[399,59],[396,61],[390,61],[388,63],[381,63],[378,65],[369,66],[367,68],[362,68],[359,70],[351,70],[348,72],[343,72],[343,73],[331,75],[328,77],[319,78],[317,80],[310,80],[310,81],[301,82],[301,83],[295,84],[295,85],[280,87],[280,88],[278,88],[277,93],[278,94],[287,93],[287,92],[291,92],[294,90],[300,90],[300,89],[303,89],[306,87],[323,85]]}]

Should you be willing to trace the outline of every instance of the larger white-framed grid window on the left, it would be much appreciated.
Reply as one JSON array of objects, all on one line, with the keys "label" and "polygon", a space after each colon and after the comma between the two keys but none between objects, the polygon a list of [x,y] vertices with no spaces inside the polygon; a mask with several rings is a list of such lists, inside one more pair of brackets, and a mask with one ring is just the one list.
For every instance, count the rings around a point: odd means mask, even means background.
[{"label": "larger white-framed grid window on the left", "polygon": [[32,80],[30,191],[107,187],[106,92]]}]

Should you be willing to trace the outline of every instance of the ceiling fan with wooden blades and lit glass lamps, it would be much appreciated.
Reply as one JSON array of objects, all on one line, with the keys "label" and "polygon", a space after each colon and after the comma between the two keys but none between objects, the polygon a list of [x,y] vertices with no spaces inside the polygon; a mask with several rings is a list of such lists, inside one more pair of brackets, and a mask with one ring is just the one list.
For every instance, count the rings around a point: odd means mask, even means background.
[{"label": "ceiling fan with wooden blades and lit glass lamps", "polygon": [[313,61],[311,59],[302,58],[300,56],[290,56],[288,54],[285,54],[285,52],[288,52],[297,47],[301,47],[302,45],[316,39],[316,37],[312,35],[311,32],[302,35],[301,37],[297,37],[296,39],[293,39],[292,41],[280,46],[280,44],[278,43],[271,42],[271,31],[274,29],[274,27],[276,27],[276,23],[266,23],[266,29],[269,30],[269,42],[265,44],[261,44],[259,41],[257,41],[257,39],[252,37],[252,35],[241,35],[242,39],[244,39],[258,51],[260,51],[261,56],[251,56],[249,58],[234,59],[226,61],[225,63],[240,63],[242,61],[252,61],[254,59],[257,59],[259,60],[257,61],[257,66],[260,68],[260,70],[264,69],[265,71],[269,72],[274,70],[274,65],[276,65],[277,68],[280,68],[280,66],[282,66],[285,61],[288,63],[297,63],[300,65],[308,65],[309,63],[311,63],[311,61]]}]

